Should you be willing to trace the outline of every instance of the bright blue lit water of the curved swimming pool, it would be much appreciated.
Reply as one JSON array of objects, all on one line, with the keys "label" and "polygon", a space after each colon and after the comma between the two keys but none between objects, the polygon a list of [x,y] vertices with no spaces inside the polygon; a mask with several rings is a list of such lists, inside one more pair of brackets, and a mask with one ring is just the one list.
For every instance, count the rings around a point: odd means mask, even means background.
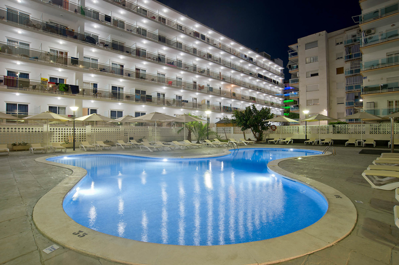
[{"label": "bright blue lit water of the curved swimming pool", "polygon": [[325,198],[269,172],[267,163],[319,153],[241,149],[200,159],[90,154],[47,160],[87,170],[63,201],[77,223],[138,241],[206,246],[270,239],[317,222],[327,211]]}]

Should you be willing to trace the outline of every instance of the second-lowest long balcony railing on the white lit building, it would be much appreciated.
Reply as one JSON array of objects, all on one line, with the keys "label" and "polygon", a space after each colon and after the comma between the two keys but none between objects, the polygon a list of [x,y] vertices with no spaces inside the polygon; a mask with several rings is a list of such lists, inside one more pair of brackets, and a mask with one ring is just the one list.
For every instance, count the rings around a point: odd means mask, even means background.
[{"label": "second-lowest long balcony railing on the white lit building", "polygon": [[[3,45],[3,43],[0,42],[0,45]],[[273,107],[282,107],[283,105],[280,103],[275,103],[271,101],[265,101],[264,99],[259,99],[255,97],[251,97],[248,95],[243,95],[237,92],[231,92],[230,90],[222,90],[222,89],[217,89],[213,88],[210,86],[200,85],[194,82],[187,82],[183,81],[180,79],[175,78],[169,78],[166,76],[162,76],[160,74],[148,74],[148,73],[143,73],[143,72],[136,72],[136,70],[131,70],[128,68],[119,68],[119,67],[114,67],[110,66],[107,64],[101,64],[101,63],[92,63],[89,61],[85,60],[79,60],[78,58],[74,57],[66,57],[66,56],[57,56],[56,54],[50,53],[50,52],[45,52],[41,50],[34,50],[34,49],[26,49],[25,47],[21,46],[14,46],[13,49],[3,49],[0,51],[0,54],[3,55],[8,55],[11,57],[18,57],[21,59],[27,59],[28,62],[35,62],[35,61],[41,61],[45,63],[49,63],[51,65],[60,65],[60,66],[68,66],[68,67],[74,67],[76,69],[87,69],[90,72],[92,71],[97,72],[97,73],[108,73],[113,76],[123,76],[125,78],[129,79],[138,79],[140,81],[147,81],[147,82],[155,82],[160,85],[166,85],[166,86],[172,86],[172,87],[178,87],[181,89],[186,89],[186,90],[194,90],[196,92],[202,92],[202,93],[208,93],[211,95],[220,95],[222,97],[227,97],[227,98],[232,98],[232,99],[237,99],[241,101],[248,101],[248,102],[254,102],[254,103],[259,103],[259,104],[265,104],[265,102],[269,102],[270,106]],[[206,91],[206,92],[205,92]]]}]

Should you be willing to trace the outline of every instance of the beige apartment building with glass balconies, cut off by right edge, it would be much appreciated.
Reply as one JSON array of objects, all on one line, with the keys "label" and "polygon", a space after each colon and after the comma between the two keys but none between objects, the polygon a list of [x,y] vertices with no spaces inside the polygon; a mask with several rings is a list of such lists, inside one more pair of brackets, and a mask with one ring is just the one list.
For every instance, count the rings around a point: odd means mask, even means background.
[{"label": "beige apartment building with glass balconies, cut off by right edge", "polygon": [[359,1],[362,14],[353,17],[361,29],[363,108],[374,115],[399,111],[399,2]]}]

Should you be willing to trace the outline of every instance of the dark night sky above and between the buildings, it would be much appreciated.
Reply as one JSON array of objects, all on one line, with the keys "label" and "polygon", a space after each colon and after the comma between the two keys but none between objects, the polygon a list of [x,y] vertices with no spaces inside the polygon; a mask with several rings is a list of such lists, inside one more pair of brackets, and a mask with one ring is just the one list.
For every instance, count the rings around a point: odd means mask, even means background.
[{"label": "dark night sky above and between the buildings", "polygon": [[[353,26],[358,0],[158,0],[252,50],[288,63],[288,45],[323,30]],[[285,79],[290,78],[284,70]]]}]

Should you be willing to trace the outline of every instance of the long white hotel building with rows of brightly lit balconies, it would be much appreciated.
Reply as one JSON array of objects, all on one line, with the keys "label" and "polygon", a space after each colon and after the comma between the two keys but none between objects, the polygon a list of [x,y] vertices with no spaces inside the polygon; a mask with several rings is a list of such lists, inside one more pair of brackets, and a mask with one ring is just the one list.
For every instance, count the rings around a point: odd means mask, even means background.
[{"label": "long white hotel building with rows of brightly lit balconies", "polygon": [[255,104],[281,115],[283,67],[157,1],[3,0],[0,112],[110,118]]}]

